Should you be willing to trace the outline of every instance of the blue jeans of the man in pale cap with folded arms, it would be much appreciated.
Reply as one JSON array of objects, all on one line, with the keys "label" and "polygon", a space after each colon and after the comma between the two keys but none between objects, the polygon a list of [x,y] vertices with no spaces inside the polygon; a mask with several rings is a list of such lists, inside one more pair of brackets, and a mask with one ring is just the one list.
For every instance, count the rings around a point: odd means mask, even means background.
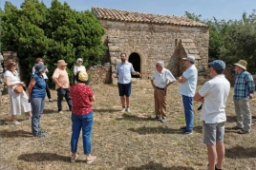
[{"label": "blue jeans of the man in pale cap with folded arms", "polygon": [[182,102],[184,106],[185,111],[185,124],[186,124],[186,131],[192,131],[193,130],[193,97],[188,97],[182,95]]}]

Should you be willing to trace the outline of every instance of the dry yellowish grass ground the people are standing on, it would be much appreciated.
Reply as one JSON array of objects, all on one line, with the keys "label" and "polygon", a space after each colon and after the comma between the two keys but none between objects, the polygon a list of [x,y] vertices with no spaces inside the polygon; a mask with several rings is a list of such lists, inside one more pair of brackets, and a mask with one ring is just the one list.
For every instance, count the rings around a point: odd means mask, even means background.
[{"label": "dry yellowish grass ground the people are standing on", "polygon": [[[200,85],[199,85],[200,86]],[[95,123],[93,154],[98,160],[93,164],[84,161],[81,138],[78,143],[79,159],[70,163],[71,113],[64,103],[64,114],[56,112],[56,102],[47,103],[41,126],[48,130],[45,139],[34,139],[31,123],[25,115],[19,117],[22,125],[10,122],[8,95],[2,97],[1,106],[1,165],[0,169],[170,169],[205,170],[206,148],[203,145],[200,113],[195,107],[195,129],[182,136],[179,128],[184,124],[178,83],[168,90],[167,123],[152,122],[154,116],[153,90],[149,81],[135,81],[131,96],[131,113],[120,113],[116,85],[93,85]],[[53,90],[53,99],[56,93]],[[255,100],[250,101],[255,115]],[[232,90],[227,102],[227,122],[224,143],[226,147],[224,169],[256,169],[255,125],[248,135],[239,135],[230,127],[236,125],[232,103]],[[254,121],[255,123],[255,121]]]}]

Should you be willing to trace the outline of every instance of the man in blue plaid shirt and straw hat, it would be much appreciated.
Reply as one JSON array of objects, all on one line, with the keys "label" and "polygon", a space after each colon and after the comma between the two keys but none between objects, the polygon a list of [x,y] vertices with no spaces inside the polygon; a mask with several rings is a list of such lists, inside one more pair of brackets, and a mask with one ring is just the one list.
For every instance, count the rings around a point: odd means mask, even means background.
[{"label": "man in blue plaid shirt and straw hat", "polygon": [[234,86],[234,104],[237,114],[237,126],[234,129],[241,129],[240,134],[250,132],[251,114],[249,109],[249,99],[252,99],[254,93],[254,82],[250,73],[246,71],[247,63],[240,60],[235,65],[235,86]]}]

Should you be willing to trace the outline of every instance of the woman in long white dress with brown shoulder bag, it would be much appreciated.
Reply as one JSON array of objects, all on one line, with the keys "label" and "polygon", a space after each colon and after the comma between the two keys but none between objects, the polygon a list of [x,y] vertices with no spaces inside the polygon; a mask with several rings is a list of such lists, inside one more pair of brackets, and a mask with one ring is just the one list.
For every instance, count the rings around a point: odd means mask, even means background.
[{"label": "woman in long white dress with brown shoulder bag", "polygon": [[24,112],[29,112],[30,118],[32,117],[32,106],[29,102],[27,93],[23,90],[21,93],[16,93],[14,88],[17,85],[26,86],[24,82],[19,79],[18,72],[16,71],[16,63],[9,62],[7,70],[4,74],[6,84],[8,85],[8,93],[11,101],[11,122],[14,125],[21,124],[16,120],[16,115],[21,115],[21,109]]}]

